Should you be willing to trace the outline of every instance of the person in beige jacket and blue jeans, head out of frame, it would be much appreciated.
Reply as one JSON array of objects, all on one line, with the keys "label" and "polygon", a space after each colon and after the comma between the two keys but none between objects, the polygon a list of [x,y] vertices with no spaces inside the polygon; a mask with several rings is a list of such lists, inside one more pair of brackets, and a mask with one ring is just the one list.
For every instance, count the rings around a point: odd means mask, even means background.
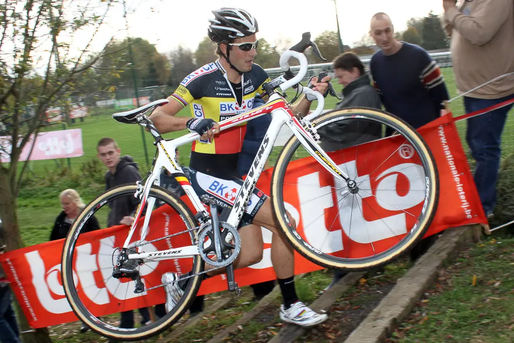
[{"label": "person in beige jacket and blue jeans, head out of frame", "polygon": [[[451,36],[453,73],[466,113],[514,98],[514,2],[443,0],[443,26]],[[512,104],[468,119],[466,140],[476,161],[474,181],[487,218],[496,205],[501,137]]]}]

